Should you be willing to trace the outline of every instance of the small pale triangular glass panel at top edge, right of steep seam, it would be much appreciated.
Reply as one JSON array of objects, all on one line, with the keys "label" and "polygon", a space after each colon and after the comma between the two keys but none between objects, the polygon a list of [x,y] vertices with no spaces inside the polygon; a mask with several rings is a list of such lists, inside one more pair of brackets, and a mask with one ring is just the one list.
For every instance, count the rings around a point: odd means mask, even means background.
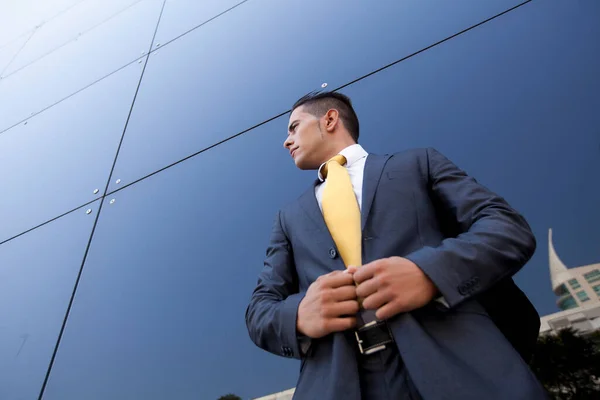
[{"label": "small pale triangular glass panel at top edge, right of steep seam", "polygon": [[167,0],[156,32],[156,43],[165,44],[241,3],[244,1]]}]

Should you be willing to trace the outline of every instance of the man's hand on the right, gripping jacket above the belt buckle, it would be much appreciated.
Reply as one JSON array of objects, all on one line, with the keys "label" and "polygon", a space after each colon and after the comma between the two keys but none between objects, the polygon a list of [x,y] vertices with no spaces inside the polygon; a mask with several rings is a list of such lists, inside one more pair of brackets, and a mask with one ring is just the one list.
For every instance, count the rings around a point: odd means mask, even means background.
[{"label": "man's hand on the right, gripping jacket above the belt buckle", "polygon": [[390,257],[349,271],[358,284],[356,294],[365,309],[377,310],[380,320],[409,312],[428,304],[438,290],[412,261]]}]

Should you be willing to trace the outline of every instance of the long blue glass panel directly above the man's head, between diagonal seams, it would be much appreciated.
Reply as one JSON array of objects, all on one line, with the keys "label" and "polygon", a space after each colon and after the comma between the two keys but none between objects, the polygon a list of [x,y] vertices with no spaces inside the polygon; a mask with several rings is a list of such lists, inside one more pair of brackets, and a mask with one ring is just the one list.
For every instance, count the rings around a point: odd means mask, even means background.
[{"label": "long blue glass panel directly above the man's head, between diagonal seams", "polygon": [[116,172],[132,182],[515,3],[248,1],[150,57]]}]

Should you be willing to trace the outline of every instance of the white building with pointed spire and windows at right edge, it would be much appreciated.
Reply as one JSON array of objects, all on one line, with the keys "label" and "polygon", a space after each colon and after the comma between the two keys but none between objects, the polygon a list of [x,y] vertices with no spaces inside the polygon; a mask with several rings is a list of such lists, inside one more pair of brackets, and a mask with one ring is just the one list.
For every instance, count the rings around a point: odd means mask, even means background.
[{"label": "white building with pointed spire and windows at right edge", "polygon": [[548,258],[552,291],[563,311],[541,318],[540,333],[573,327],[581,333],[600,329],[600,264],[567,268],[554,249],[548,231]]}]

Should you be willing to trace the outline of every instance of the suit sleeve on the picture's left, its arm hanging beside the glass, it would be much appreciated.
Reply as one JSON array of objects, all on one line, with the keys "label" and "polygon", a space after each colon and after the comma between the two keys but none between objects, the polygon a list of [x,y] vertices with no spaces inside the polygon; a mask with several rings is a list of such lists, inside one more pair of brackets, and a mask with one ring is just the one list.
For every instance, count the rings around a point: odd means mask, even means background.
[{"label": "suit sleeve on the picture's left, its arm hanging beside the glass", "polygon": [[271,353],[302,358],[296,318],[303,297],[298,290],[291,245],[278,212],[264,267],[246,309],[246,326],[252,341]]}]

